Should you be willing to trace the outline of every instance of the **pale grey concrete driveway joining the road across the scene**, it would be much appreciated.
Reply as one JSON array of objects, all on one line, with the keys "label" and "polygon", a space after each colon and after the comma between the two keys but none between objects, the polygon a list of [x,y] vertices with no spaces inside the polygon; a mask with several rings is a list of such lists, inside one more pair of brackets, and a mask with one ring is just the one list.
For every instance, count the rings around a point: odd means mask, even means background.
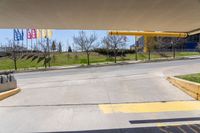
[{"label": "pale grey concrete driveway joining the road across the scene", "polygon": [[[193,118],[200,111],[105,114],[99,105],[194,101],[166,77],[197,73],[199,66],[196,59],[16,74],[22,92],[0,101],[0,132],[144,132],[144,127],[164,132],[158,123],[129,121]],[[191,119],[175,124],[198,129],[199,123]]]}]

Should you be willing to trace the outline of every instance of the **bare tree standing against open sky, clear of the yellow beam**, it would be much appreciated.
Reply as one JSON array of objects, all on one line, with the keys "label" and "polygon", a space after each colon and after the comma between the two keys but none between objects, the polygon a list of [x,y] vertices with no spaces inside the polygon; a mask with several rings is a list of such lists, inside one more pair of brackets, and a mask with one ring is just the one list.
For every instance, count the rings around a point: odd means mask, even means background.
[{"label": "bare tree standing against open sky, clear of the yellow beam", "polygon": [[84,31],[79,32],[78,36],[73,37],[74,44],[87,55],[87,64],[90,65],[91,50],[98,46],[96,42],[97,36],[94,34],[87,36]]}]

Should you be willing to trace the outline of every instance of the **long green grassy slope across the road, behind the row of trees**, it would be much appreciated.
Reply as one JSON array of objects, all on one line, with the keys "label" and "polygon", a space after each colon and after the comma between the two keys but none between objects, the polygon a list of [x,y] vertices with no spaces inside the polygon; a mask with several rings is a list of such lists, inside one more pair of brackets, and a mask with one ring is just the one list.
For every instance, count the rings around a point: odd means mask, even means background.
[{"label": "long green grassy slope across the road, behind the row of trees", "polygon": [[[70,65],[83,65],[87,64],[87,56],[85,53],[52,53],[53,58],[51,60],[51,66],[70,66]],[[177,52],[176,57],[183,56],[194,56],[199,55],[198,52]],[[154,52],[151,53],[151,59],[169,58],[172,57],[171,52]],[[128,61],[135,60],[135,54],[127,54],[125,57],[117,57],[117,61]],[[138,53],[138,60],[148,60],[148,53]],[[90,63],[103,63],[103,62],[114,62],[114,57],[106,57],[98,53],[91,53]],[[30,68],[38,69],[44,67],[43,63],[37,63],[37,60],[31,61],[25,59],[19,59],[17,61],[17,68],[27,70]],[[13,70],[13,61],[9,58],[0,58],[0,70]]]}]

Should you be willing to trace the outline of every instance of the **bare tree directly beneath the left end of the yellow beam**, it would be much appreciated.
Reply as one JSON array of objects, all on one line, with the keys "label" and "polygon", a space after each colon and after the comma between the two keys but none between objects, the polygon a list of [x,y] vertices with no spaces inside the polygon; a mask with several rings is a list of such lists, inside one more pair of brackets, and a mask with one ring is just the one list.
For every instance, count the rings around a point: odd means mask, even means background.
[{"label": "bare tree directly beneath the left end of the yellow beam", "polygon": [[106,36],[102,41],[108,47],[114,50],[115,63],[117,63],[117,54],[120,47],[126,44],[126,36]]}]

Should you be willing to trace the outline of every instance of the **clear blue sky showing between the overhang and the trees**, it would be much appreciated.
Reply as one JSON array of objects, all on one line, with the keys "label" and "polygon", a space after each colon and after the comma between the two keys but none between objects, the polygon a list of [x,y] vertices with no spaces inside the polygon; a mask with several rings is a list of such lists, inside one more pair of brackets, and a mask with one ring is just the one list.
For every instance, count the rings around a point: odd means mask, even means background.
[{"label": "clear blue sky showing between the overhang and the trees", "polygon": [[[62,42],[63,47],[68,47],[73,43],[73,36],[78,35],[80,30],[53,30],[52,40]],[[86,30],[86,34],[90,35],[95,33],[98,37],[98,42],[108,34],[105,30]],[[5,45],[7,41],[13,39],[13,29],[0,29],[0,45]],[[128,37],[127,47],[135,43],[134,37]]]}]

